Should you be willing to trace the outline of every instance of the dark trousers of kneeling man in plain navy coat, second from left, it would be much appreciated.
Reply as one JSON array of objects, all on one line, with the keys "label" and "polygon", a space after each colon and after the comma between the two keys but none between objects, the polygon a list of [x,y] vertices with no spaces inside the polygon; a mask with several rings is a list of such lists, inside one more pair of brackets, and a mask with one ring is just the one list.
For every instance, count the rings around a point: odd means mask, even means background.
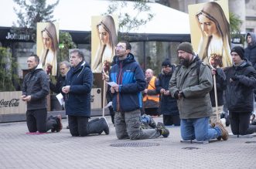
[{"label": "dark trousers of kneeling man in plain navy coat, second from left", "polygon": [[88,121],[88,117],[68,116],[70,134],[73,137],[87,136],[89,134],[101,134],[104,130],[103,119],[94,119]]}]

